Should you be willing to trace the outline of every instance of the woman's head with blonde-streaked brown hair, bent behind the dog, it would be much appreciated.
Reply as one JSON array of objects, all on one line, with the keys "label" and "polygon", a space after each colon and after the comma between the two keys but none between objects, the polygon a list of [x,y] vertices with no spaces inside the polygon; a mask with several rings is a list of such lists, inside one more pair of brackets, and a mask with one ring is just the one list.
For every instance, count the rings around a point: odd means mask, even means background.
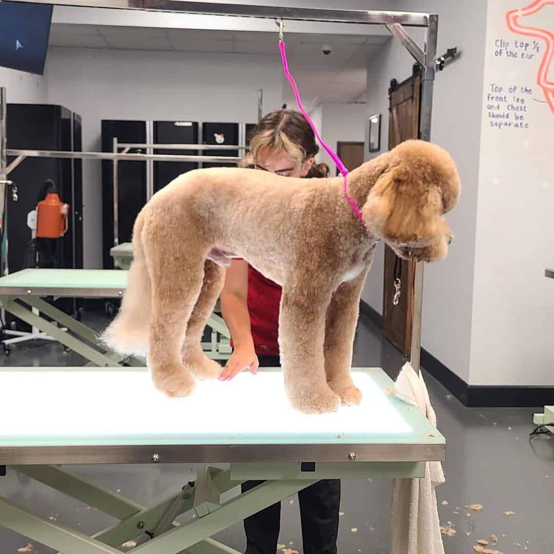
[{"label": "woman's head with blonde-streaked brown hair, bent behind the dog", "polygon": [[265,115],[250,140],[253,165],[285,177],[327,177],[329,166],[315,163],[314,131],[300,112],[276,110]]}]

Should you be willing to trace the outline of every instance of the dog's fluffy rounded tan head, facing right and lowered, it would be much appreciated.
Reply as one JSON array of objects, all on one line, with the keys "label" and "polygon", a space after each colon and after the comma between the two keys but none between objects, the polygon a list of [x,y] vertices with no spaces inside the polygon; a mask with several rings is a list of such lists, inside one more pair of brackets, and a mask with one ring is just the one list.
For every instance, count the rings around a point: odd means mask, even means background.
[{"label": "dog's fluffy rounded tan head, facing right and lowered", "polygon": [[453,234],[443,216],[460,196],[454,161],[439,146],[420,140],[402,142],[383,158],[362,208],[367,228],[401,258],[445,258]]}]

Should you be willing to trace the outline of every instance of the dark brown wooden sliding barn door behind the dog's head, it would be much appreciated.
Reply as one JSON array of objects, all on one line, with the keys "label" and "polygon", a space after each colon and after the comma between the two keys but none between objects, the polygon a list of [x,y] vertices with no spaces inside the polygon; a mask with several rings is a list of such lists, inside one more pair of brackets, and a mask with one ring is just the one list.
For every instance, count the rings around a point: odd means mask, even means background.
[{"label": "dark brown wooden sliding barn door behind the dog's head", "polygon": [[[389,150],[408,139],[419,137],[419,110],[421,78],[417,66],[414,74],[397,83],[391,81],[389,89]],[[395,271],[396,269],[396,271]],[[383,283],[383,333],[402,353],[409,355],[412,342],[413,291],[416,264],[413,261],[397,259],[385,245]],[[400,296],[397,304],[395,280],[400,279]],[[398,295],[397,295],[398,297]]]}]

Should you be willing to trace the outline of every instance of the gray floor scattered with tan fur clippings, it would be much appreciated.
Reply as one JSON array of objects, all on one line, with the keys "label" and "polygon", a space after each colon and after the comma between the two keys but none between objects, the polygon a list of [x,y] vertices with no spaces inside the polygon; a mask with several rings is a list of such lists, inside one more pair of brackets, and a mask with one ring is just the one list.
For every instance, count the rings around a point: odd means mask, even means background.
[{"label": "gray floor scattered with tan fur clippings", "polygon": [[[93,327],[105,325],[100,315],[85,314]],[[52,343],[16,346],[0,365],[82,365],[83,360]],[[361,320],[355,342],[355,366],[380,366],[395,378],[403,358],[371,322]],[[447,437],[446,483],[437,489],[443,525],[455,531],[444,536],[447,554],[469,554],[476,540],[499,538],[504,554],[554,552],[554,439],[529,439],[533,429],[529,408],[465,408],[435,379],[424,374],[440,431]],[[24,402],[22,402],[24,409]],[[45,414],[46,415],[46,414]],[[17,414],[14,414],[17,417]],[[142,505],[151,506],[175,494],[193,479],[193,465],[66,466],[67,470]],[[94,534],[116,521],[95,509],[57,493],[14,471],[0,477],[0,493],[38,514]],[[391,481],[343,480],[339,552],[388,554]],[[483,505],[481,510],[466,506]],[[514,515],[502,512],[514,511]],[[181,520],[179,520],[181,521]],[[450,522],[450,523],[449,523]],[[244,549],[241,525],[217,535],[217,540]],[[54,551],[0,527],[0,554],[14,554],[32,543],[34,554]],[[283,502],[280,542],[302,552],[296,497]],[[121,548],[125,550],[125,548]],[[77,553],[67,553],[77,554]]]}]

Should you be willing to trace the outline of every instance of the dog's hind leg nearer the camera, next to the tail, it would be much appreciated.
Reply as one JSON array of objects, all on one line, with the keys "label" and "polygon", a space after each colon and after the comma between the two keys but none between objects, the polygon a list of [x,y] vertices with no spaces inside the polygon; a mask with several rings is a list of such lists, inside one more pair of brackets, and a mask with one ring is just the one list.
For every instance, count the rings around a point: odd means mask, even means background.
[{"label": "dog's hind leg nearer the camera, next to the tail", "polygon": [[153,213],[143,237],[152,283],[148,367],[160,391],[171,397],[187,396],[195,381],[183,364],[181,350],[202,288],[209,244],[204,248],[192,221],[183,224],[167,213]]}]

